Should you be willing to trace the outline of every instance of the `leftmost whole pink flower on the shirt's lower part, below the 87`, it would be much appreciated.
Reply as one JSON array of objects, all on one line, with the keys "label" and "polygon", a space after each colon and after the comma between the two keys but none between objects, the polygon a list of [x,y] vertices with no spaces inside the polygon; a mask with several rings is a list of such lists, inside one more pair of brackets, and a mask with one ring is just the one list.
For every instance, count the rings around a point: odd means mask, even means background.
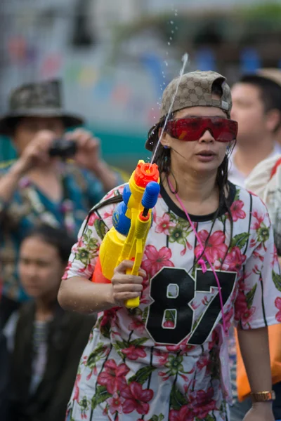
[{"label": "leftmost whole pink flower on the shirt's lower part, below the 87", "polygon": [[105,370],[98,376],[98,385],[105,386],[107,392],[114,394],[117,390],[126,387],[125,375],[129,373],[126,364],[117,366],[113,359],[106,361]]}]

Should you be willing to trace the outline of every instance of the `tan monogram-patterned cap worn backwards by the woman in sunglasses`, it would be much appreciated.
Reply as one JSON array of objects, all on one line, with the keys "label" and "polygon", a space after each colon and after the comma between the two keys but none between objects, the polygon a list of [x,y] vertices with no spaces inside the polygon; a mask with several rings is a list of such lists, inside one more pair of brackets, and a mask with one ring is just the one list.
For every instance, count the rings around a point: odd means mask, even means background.
[{"label": "tan monogram-patterned cap worn backwards by the woman in sunglasses", "polygon": [[[154,135],[155,131],[163,125],[164,118],[171,107],[171,102],[173,101],[177,86],[178,91],[176,93],[176,98],[174,99],[173,107],[171,108],[171,113],[188,107],[217,107],[226,112],[228,118],[230,118],[232,107],[231,92],[224,76],[212,72],[211,70],[208,72],[200,72],[197,70],[196,72],[183,74],[178,85],[179,77],[180,76],[173,79],[164,90],[159,122],[150,129],[151,135],[145,142],[145,148],[149,151],[153,150],[155,142],[157,141],[157,136]],[[211,98],[211,88],[214,81],[221,83],[223,95],[219,100]]]}]

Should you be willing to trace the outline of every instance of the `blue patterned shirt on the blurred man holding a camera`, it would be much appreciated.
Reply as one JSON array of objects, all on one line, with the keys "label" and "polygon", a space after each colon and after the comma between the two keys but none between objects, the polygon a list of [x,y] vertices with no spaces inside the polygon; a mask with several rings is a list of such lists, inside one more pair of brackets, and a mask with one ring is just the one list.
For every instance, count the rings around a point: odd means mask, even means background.
[{"label": "blue patterned shirt on the blurred man holding a camera", "polygon": [[[11,168],[1,165],[0,177]],[[79,227],[89,209],[98,203],[105,195],[100,181],[89,171],[81,170],[71,163],[60,168],[64,195],[62,201],[51,201],[35,185],[23,178],[18,189],[9,203],[0,201],[0,258],[2,293],[6,297],[21,302],[27,299],[25,291],[18,280],[17,262],[20,243],[27,232],[39,222],[50,225],[65,226],[70,234],[77,236]],[[117,185],[123,183],[124,178],[116,171]],[[32,206],[31,197],[39,199],[39,208]],[[36,200],[35,199],[35,200]],[[67,217],[66,208],[71,208]],[[42,209],[42,210],[41,210]],[[50,216],[51,219],[50,220]]]}]

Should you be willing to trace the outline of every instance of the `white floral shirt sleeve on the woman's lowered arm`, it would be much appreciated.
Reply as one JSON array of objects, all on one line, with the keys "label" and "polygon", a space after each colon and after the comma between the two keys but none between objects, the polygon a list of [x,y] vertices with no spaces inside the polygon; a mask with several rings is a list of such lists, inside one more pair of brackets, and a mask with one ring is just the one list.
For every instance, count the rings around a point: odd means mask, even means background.
[{"label": "white floral shirt sleeve on the woman's lowered arm", "polygon": [[249,248],[235,300],[235,321],[241,328],[262,328],[281,322],[281,276],[266,206],[254,197]]}]

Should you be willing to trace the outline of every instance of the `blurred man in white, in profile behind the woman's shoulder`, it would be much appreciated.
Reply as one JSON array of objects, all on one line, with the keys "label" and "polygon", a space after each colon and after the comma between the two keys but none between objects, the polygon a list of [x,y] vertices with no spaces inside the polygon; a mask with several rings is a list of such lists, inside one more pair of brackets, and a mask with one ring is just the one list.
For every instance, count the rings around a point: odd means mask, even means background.
[{"label": "blurred man in white, in profile behind the woman's shoulder", "polygon": [[281,127],[281,81],[268,69],[261,69],[242,76],[232,95],[231,118],[238,122],[238,136],[228,178],[244,187],[244,180],[259,162],[281,153],[276,142]]}]

